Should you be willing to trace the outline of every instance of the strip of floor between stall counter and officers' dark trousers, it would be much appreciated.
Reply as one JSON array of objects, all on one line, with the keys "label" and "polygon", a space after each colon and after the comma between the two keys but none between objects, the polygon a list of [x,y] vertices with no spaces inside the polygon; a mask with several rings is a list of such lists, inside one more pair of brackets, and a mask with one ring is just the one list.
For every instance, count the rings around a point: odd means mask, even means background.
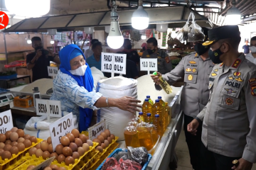
[{"label": "strip of floor between stall counter and officers' dark trousers", "polygon": [[[190,164],[190,158],[188,153],[188,146],[186,145],[184,131],[182,130],[178,142],[176,145],[176,154],[178,157],[178,169],[177,170],[192,170]],[[256,170],[256,164],[253,164],[252,170]]]}]

